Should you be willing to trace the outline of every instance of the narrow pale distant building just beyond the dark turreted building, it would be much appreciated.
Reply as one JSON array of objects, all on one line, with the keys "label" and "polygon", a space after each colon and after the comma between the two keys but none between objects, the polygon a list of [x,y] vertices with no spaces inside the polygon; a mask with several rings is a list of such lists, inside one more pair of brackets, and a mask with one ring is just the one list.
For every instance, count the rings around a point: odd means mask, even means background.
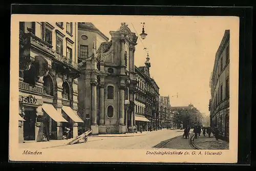
[{"label": "narrow pale distant building just beyond the dark turreted building", "polygon": [[160,116],[160,125],[162,128],[173,127],[173,114],[170,111],[170,98],[169,96],[160,96],[159,97],[159,116]]}]

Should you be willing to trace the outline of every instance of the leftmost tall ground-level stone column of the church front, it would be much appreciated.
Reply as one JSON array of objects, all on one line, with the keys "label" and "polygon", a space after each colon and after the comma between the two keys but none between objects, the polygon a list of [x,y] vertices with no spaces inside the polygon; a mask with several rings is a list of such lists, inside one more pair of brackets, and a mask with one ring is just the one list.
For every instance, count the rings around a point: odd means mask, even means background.
[{"label": "leftmost tall ground-level stone column of the church front", "polygon": [[93,130],[92,135],[99,134],[99,126],[97,124],[97,82],[91,81],[92,87],[92,101],[91,101],[91,129]]}]

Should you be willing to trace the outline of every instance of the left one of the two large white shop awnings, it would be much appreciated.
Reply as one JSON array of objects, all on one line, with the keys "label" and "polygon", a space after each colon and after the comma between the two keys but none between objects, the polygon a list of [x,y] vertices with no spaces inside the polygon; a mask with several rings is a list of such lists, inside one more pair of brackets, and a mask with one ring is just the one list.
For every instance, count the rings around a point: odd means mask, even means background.
[{"label": "left one of the two large white shop awnings", "polygon": [[56,111],[52,104],[42,104],[42,109],[56,122],[68,122],[59,112]]}]

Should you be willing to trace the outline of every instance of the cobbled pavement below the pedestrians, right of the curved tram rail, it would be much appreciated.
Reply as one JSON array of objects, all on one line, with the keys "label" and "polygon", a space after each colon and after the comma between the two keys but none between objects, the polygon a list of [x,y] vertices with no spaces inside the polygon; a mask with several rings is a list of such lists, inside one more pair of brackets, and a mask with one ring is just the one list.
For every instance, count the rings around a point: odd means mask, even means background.
[{"label": "cobbled pavement below the pedestrians, right of the curved tram rail", "polygon": [[223,140],[216,140],[215,137],[208,137],[208,134],[194,139],[194,144],[201,149],[229,149],[229,143]]}]

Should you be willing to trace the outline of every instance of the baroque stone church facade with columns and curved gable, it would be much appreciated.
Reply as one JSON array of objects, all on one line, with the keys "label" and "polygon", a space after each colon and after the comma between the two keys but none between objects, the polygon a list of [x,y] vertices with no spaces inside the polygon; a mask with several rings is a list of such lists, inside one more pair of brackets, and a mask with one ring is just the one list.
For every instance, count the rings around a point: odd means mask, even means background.
[{"label": "baroque stone church facade with columns and curved gable", "polygon": [[[86,28],[84,25],[88,23],[79,25]],[[91,42],[93,46],[88,47],[88,58],[81,57],[82,51],[79,51],[82,64],[78,99],[80,116],[86,121],[84,127],[92,129],[93,135],[137,132],[134,52],[138,37],[125,23],[117,31],[110,31],[110,41],[105,41],[107,38],[96,32],[99,36]],[[84,30],[78,37],[83,34],[86,34]],[[104,42],[97,40],[100,36]]]}]

